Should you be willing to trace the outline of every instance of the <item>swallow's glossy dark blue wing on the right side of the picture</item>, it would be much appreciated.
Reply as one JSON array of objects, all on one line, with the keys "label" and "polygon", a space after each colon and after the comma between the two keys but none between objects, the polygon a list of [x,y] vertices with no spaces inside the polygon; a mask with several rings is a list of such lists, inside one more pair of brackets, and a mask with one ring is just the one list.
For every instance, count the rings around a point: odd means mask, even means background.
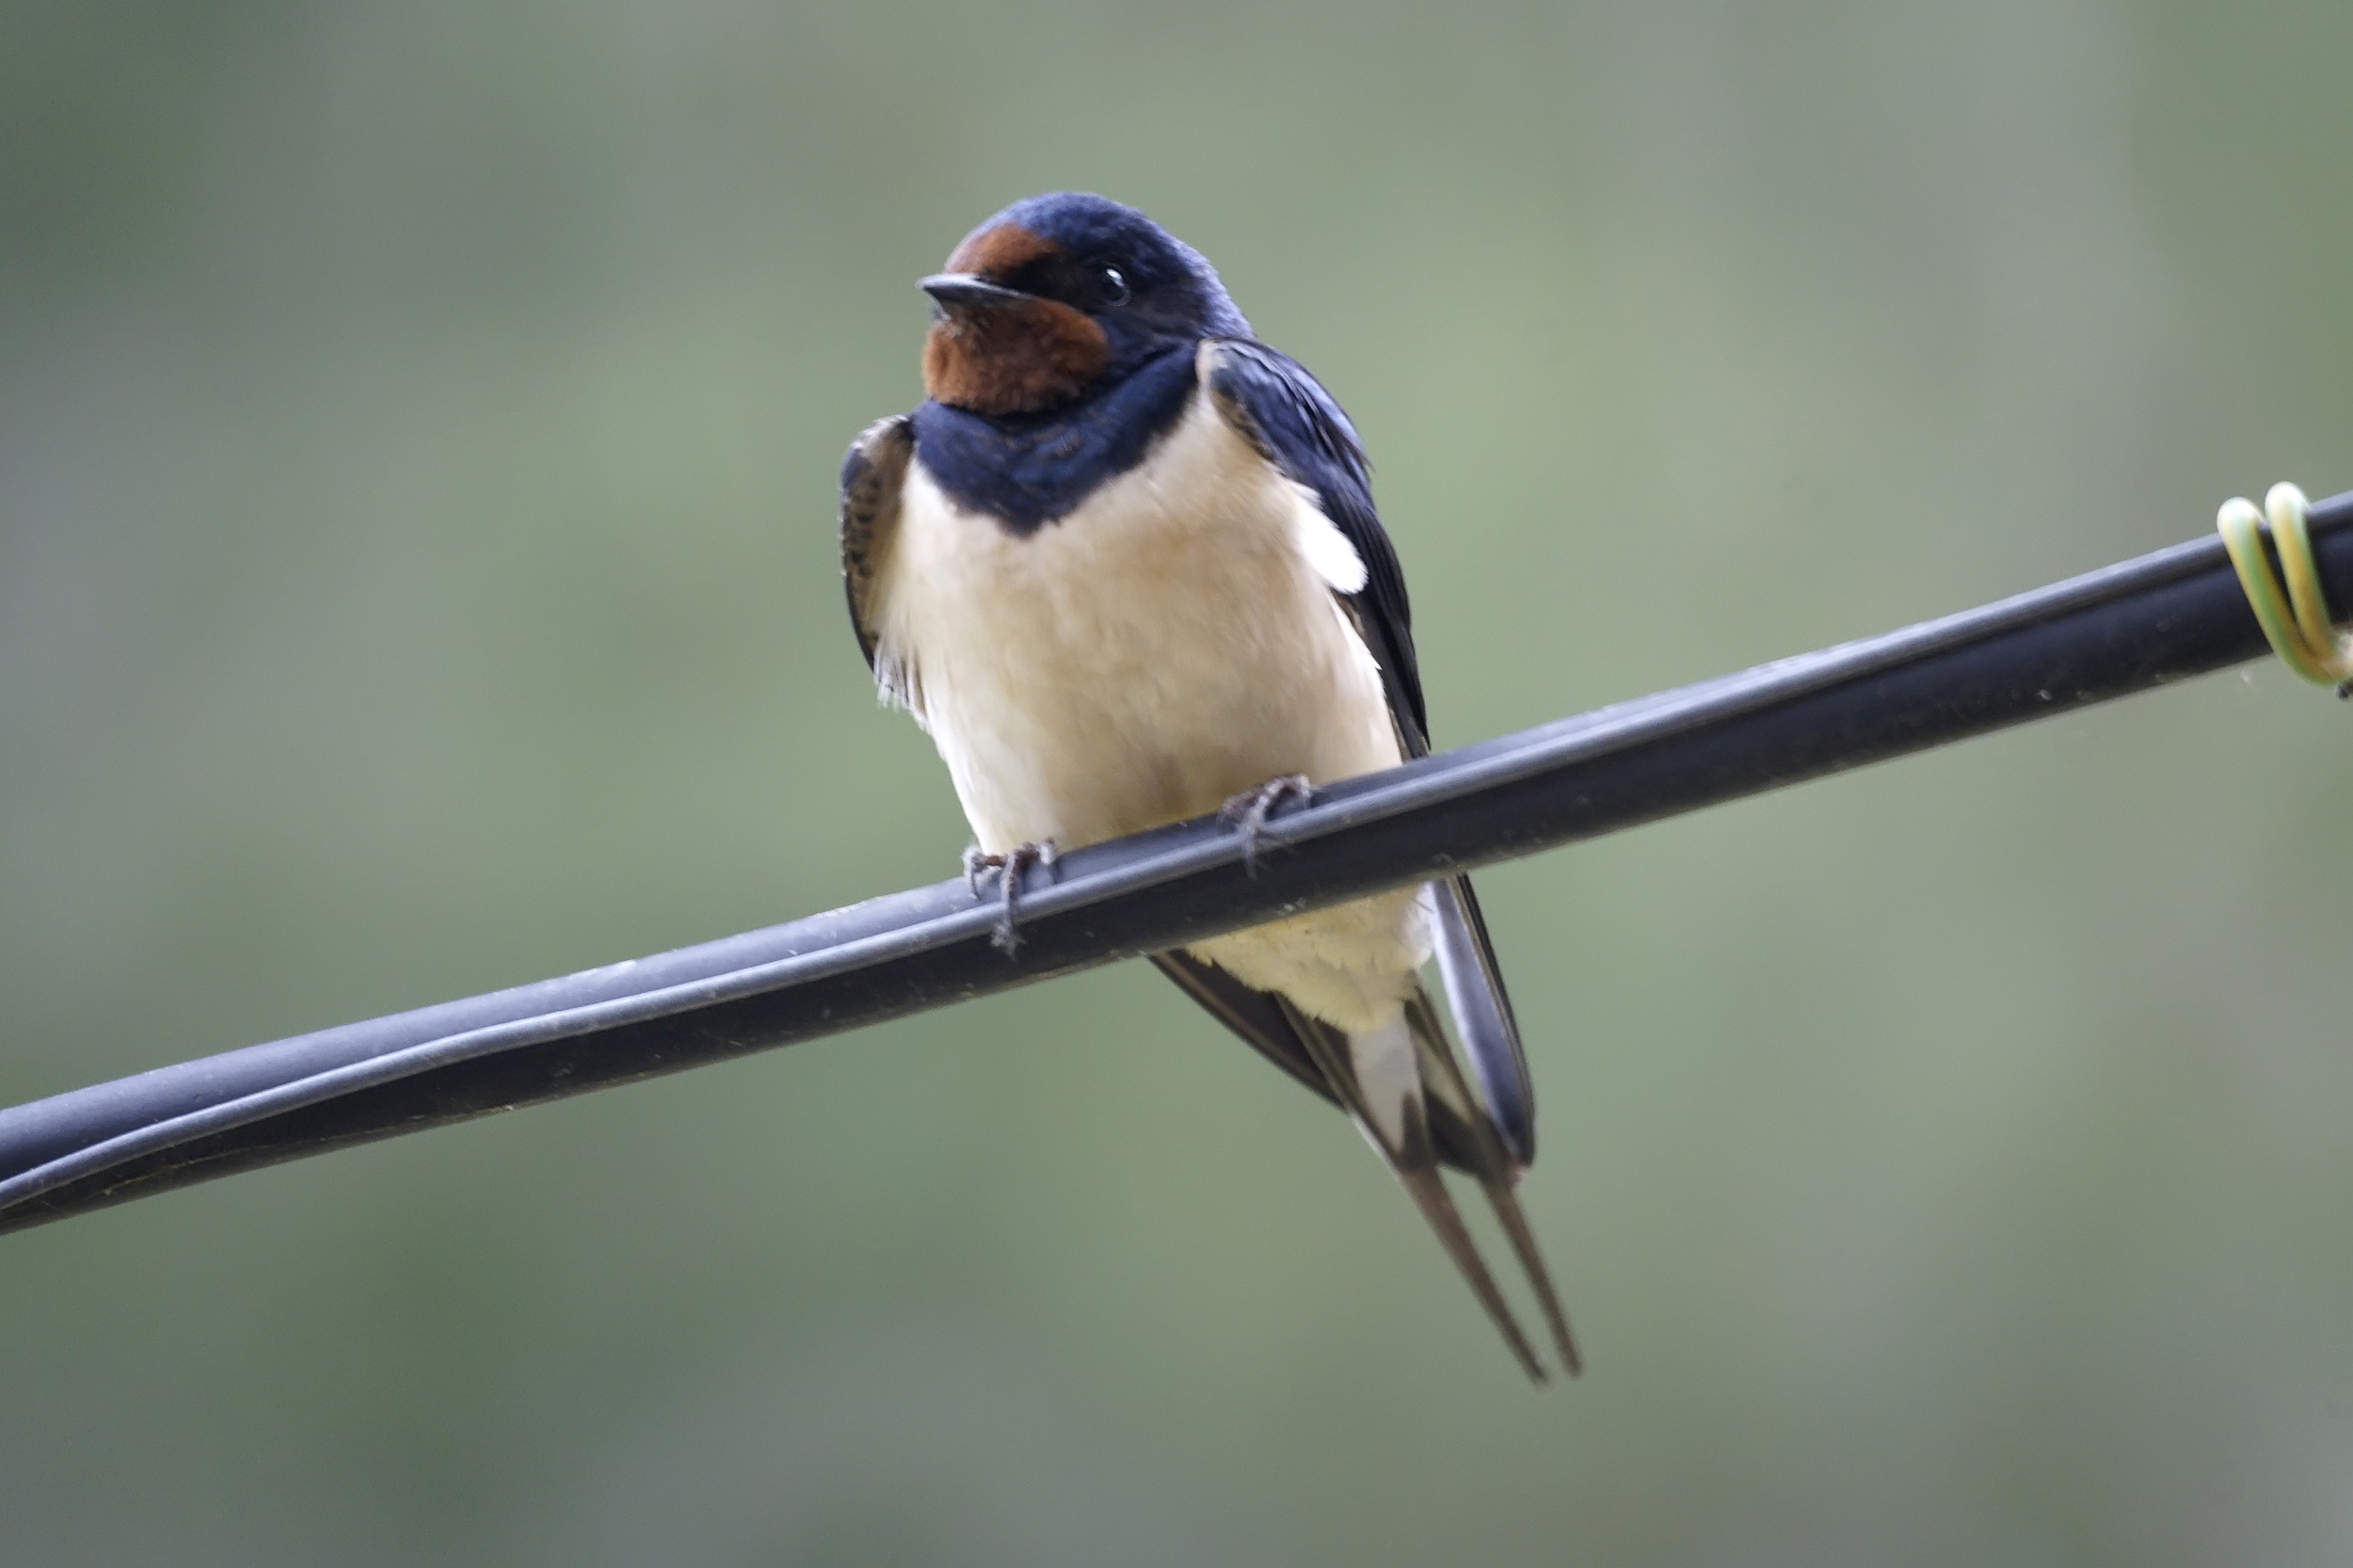
[{"label": "swallow's glossy dark blue wing on the right side of the picture", "polygon": [[[1381,664],[1388,711],[1398,723],[1405,756],[1431,749],[1431,720],[1421,702],[1421,669],[1414,664],[1412,605],[1398,551],[1372,506],[1372,464],[1348,414],[1308,370],[1266,344],[1217,339],[1209,393],[1219,412],[1266,461],[1306,485],[1332,525],[1348,537],[1365,563],[1365,589],[1341,596],[1365,633],[1365,647]],[[1487,1099],[1487,1114],[1511,1156],[1537,1158],[1537,1095],[1520,1050],[1520,1024],[1511,1012],[1504,970],[1487,939],[1478,895],[1468,876],[1438,883],[1438,965],[1454,1024],[1471,1055],[1471,1071]],[[1231,1022],[1231,1019],[1228,1019]],[[1245,1038],[1247,1031],[1245,1031]],[[1261,1045],[1266,1050],[1266,1045]]]}]

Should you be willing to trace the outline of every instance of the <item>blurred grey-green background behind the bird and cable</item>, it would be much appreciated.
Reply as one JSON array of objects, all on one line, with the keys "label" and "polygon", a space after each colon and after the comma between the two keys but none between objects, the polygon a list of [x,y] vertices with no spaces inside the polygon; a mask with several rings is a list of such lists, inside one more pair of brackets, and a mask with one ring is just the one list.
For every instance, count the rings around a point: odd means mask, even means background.
[{"label": "blurred grey-green background behind the bird and cable", "polygon": [[[0,1099],[948,873],[833,466],[1012,198],[1351,407],[1447,744],[2353,487],[2346,59],[0,5]],[[1487,873],[1581,1384],[1125,965],[0,1241],[0,1561],[2344,1563],[2346,723],[2261,666]]]}]

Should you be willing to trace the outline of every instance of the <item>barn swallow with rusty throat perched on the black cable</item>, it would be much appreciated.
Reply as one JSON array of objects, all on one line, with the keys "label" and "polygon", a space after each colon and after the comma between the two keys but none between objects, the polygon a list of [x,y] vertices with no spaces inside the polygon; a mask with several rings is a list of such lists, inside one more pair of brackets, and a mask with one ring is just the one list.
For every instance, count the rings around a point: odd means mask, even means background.
[{"label": "barn swallow with rusty throat perched on the black cable", "polygon": [[[1428,751],[1405,577],[1339,403],[1134,207],[1035,195],[925,278],[927,400],[842,464],[849,622],[939,744],[1002,878],[1005,935],[1056,848],[1268,812]],[[1466,1076],[1424,968],[1435,958]],[[1457,1212],[1473,1177],[1577,1342],[1513,1184],[1534,1097],[1471,881],[1449,876],[1153,958],[1395,1170],[1529,1377]],[[1471,1083],[1478,1083],[1473,1092]]]}]

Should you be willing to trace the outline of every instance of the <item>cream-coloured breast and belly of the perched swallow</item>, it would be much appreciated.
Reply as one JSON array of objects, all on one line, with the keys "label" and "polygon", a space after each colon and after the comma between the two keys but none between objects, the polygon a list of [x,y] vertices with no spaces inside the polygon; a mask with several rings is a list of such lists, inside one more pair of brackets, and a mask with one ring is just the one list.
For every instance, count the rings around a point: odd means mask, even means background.
[{"label": "cream-coloured breast and belly of the perched swallow", "polygon": [[[958,511],[911,464],[878,619],[981,848],[1068,850],[1278,775],[1400,760],[1334,582],[1362,582],[1346,539],[1200,398],[1144,466],[1031,537]],[[1419,897],[1395,892],[1193,951],[1372,1029],[1428,935]]]}]

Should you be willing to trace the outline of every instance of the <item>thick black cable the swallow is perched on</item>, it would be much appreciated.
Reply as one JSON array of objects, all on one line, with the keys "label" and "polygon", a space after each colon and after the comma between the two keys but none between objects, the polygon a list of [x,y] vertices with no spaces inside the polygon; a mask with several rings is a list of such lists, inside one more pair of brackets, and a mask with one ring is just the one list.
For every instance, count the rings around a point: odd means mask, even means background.
[{"label": "thick black cable the swallow is perched on", "polygon": [[[2353,605],[2353,494],[2313,506]],[[0,1231],[856,1029],[1280,913],[2125,697],[2266,652],[2217,537],[1995,605],[1334,784],[1257,873],[1214,822],[1031,878],[1014,958],[962,881],[0,1111]]]}]

